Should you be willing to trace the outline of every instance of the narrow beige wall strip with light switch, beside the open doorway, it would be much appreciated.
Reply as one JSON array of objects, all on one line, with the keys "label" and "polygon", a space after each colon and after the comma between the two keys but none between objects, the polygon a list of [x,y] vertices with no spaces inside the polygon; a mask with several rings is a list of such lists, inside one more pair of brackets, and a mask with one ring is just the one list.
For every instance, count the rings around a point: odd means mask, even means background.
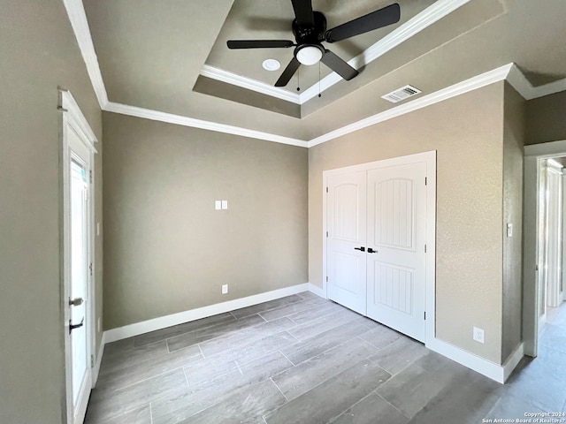
[{"label": "narrow beige wall strip with light switch, beside the open doorway", "polygon": [[524,98],[505,84],[503,126],[503,321],[501,363],[522,340]]}]

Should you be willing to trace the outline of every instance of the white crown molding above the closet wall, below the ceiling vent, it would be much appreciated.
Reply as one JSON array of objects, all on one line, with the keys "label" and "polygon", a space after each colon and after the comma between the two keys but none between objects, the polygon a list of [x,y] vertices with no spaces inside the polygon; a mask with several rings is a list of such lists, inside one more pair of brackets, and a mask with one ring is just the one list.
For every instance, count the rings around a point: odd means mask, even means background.
[{"label": "white crown molding above the closet wall, below the ceiling vent", "polygon": [[309,148],[317,146],[317,144],[324,143],[329,140],[336,139],[343,135],[354,133],[358,130],[366,128],[371,125],[379,124],[380,122],[386,121],[393,117],[400,117],[405,113],[412,112],[413,110],[422,109],[431,104],[442,102],[456,95],[463,95],[472,90],[476,90],[481,87],[486,87],[494,82],[501,81],[507,77],[509,70],[515,66],[515,64],[505,64],[499,68],[493,69],[492,71],[484,72],[478,76],[466,79],[459,82],[453,86],[442,88],[430,95],[421,96],[412,102],[403,103],[402,105],[396,106],[392,109],[385,110],[371,117],[366,117],[360,121],[353,124],[343,126],[337,130],[331,131],[330,133],[325,133],[319,137],[316,137],[309,141]]}]

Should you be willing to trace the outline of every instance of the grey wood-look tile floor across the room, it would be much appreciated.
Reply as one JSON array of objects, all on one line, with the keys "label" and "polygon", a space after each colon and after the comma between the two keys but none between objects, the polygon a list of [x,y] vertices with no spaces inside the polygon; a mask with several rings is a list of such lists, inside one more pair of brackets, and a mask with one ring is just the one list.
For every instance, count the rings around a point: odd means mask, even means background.
[{"label": "grey wood-look tile floor across the room", "polygon": [[566,410],[566,307],[508,384],[305,292],[106,345],[87,424],[480,423]]}]

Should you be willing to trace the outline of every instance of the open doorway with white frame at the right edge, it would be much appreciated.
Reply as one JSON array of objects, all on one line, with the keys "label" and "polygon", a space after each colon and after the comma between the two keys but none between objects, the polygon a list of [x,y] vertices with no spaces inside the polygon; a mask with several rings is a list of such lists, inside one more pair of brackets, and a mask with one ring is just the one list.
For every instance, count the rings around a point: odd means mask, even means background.
[{"label": "open doorway with white frame at the right edge", "polygon": [[536,357],[564,302],[566,140],[525,146],[524,155],[523,338],[525,354]]}]

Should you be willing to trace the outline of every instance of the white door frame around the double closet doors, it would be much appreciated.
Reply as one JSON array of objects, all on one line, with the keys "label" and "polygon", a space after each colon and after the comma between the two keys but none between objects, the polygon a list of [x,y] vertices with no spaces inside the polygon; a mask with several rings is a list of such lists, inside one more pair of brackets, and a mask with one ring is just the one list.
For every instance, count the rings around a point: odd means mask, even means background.
[{"label": "white door frame around the double closet doors", "polygon": [[426,163],[427,191],[426,191],[426,273],[425,273],[425,286],[426,286],[426,337],[425,344],[429,345],[436,339],[435,329],[435,292],[436,292],[436,151],[417,153],[415,155],[405,155],[394,157],[391,159],[384,159],[382,161],[372,163],[362,163],[359,165],[347,166],[334,170],[323,171],[323,259],[322,259],[322,287],[324,296],[327,298],[327,284],[326,284],[326,229],[327,229],[327,205],[326,205],[326,187],[327,179],[330,175],[343,174],[348,172],[356,172],[361,170],[371,170],[381,166],[395,166],[405,163]]}]

